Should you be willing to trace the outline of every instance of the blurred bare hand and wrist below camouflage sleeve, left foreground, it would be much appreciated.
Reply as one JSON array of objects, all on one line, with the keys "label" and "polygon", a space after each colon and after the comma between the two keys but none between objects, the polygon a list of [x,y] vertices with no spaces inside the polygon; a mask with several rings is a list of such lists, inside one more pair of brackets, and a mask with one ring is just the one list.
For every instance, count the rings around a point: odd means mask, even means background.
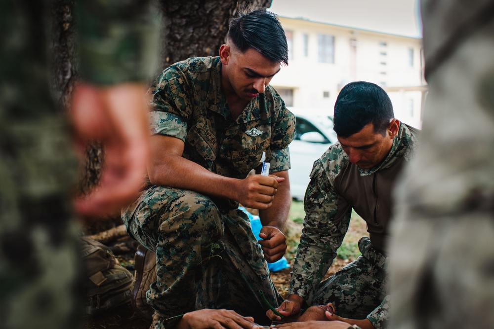
[{"label": "blurred bare hand and wrist below camouflage sleeve, left foreground", "polygon": [[94,140],[105,149],[98,187],[75,200],[84,216],[113,214],[136,197],[149,157],[145,87],[118,84],[98,88],[80,84],[73,93],[71,118],[80,149]]}]

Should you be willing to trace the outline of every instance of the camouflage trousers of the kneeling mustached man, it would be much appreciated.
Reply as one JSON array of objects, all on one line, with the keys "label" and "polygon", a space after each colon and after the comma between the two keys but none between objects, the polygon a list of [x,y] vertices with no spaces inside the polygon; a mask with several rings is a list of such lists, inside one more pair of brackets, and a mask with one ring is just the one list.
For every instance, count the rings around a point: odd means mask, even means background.
[{"label": "camouflage trousers of the kneeling mustached man", "polygon": [[163,319],[226,308],[267,323],[259,290],[273,305],[281,297],[242,211],[221,210],[204,195],[162,186],[148,189],[135,204],[123,216],[126,221],[135,212],[129,233],[156,252],[157,281],[147,299]]}]

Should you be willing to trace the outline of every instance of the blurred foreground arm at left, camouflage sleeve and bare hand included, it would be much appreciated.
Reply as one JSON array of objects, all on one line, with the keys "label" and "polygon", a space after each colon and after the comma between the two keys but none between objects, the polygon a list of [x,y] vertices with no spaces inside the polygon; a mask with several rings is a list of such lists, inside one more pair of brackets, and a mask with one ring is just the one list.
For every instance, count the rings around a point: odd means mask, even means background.
[{"label": "blurred foreground arm at left, camouflage sleeve and bare hand included", "polygon": [[76,2],[80,76],[71,104],[79,147],[102,143],[105,159],[98,187],[75,200],[82,216],[120,212],[136,196],[149,156],[144,100],[157,68],[156,17],[147,0]]}]

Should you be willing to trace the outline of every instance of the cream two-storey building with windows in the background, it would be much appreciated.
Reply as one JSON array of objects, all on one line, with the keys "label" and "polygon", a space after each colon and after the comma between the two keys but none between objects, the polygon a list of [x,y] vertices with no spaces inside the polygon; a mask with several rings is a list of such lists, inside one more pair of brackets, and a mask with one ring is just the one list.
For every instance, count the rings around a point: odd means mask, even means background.
[{"label": "cream two-storey building with windows in the background", "polygon": [[396,118],[421,127],[426,94],[422,39],[280,16],[289,65],[271,81],[287,106],[332,114],[341,88],[376,83],[389,94]]}]

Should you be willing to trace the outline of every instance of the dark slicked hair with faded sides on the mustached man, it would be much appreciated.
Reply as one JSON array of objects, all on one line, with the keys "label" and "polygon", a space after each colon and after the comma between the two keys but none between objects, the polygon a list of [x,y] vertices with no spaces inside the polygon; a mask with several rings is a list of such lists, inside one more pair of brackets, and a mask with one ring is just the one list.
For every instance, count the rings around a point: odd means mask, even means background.
[{"label": "dark slicked hair with faded sides on the mustached man", "polygon": [[242,53],[252,48],[273,62],[288,65],[285,31],[276,14],[266,8],[242,10],[230,21],[227,37]]}]

